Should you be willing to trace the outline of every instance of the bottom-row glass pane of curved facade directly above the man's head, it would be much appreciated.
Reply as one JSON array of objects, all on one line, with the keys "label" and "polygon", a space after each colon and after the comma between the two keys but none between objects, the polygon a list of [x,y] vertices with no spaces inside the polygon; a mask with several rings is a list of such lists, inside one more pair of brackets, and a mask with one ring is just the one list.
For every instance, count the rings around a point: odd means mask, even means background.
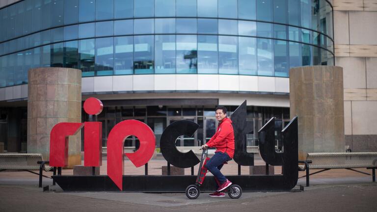
[{"label": "bottom-row glass pane of curved facade directly above the man's head", "polygon": [[237,37],[218,36],[218,73],[238,74]]}]

